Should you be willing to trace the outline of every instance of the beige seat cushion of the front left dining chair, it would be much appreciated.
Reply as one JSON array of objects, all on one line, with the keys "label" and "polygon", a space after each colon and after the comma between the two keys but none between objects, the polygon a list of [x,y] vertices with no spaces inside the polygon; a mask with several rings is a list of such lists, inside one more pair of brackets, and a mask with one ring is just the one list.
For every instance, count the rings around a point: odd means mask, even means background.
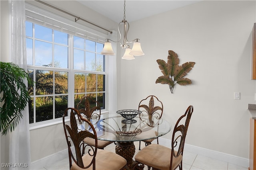
[{"label": "beige seat cushion of the front left dining chair", "polygon": [[[88,165],[92,160],[92,156],[89,154],[85,154],[83,157],[84,165]],[[114,152],[110,152],[107,150],[98,149],[96,154],[96,170],[120,170],[126,165],[126,160]],[[73,163],[71,166],[71,170],[84,170],[79,168],[76,163]],[[92,165],[86,169],[92,170]]]}]

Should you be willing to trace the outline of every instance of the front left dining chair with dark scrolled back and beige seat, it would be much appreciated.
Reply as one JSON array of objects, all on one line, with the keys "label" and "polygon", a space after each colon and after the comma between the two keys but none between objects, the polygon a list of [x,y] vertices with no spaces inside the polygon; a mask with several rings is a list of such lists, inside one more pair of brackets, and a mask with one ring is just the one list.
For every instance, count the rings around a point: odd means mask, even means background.
[{"label": "front left dining chair with dark scrolled back and beige seat", "polygon": [[[65,121],[68,113],[70,113],[70,122]],[[126,168],[127,162],[125,158],[114,152],[98,149],[97,133],[88,119],[80,117],[91,131],[79,131],[75,114],[80,116],[77,109],[69,107],[62,116],[64,133],[68,144],[70,170],[121,170]],[[83,139],[86,137],[94,139],[95,146],[84,143]],[[85,147],[82,147],[82,144],[85,144]],[[87,153],[83,154],[83,152]]]}]

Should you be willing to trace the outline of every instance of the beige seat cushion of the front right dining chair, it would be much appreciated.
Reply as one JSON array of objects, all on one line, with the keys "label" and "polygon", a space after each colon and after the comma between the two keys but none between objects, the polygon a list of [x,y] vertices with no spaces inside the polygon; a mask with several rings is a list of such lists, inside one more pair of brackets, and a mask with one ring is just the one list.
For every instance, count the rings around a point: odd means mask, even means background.
[{"label": "beige seat cushion of the front right dining chair", "polygon": [[[135,160],[142,164],[145,164],[160,170],[169,170],[170,160],[171,160],[171,149],[168,147],[164,147],[162,145],[151,144],[143,148],[142,150],[140,150],[135,155]],[[181,161],[182,161],[181,154],[177,158],[173,157],[172,170],[176,168]]]}]

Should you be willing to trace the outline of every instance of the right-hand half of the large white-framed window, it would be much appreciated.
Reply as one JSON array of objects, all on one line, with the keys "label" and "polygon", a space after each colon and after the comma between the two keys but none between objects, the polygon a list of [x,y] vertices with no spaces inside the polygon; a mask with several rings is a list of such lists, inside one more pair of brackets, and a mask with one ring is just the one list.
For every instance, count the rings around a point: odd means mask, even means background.
[{"label": "right-hand half of the large white-framed window", "polygon": [[105,57],[100,54],[103,44],[76,36],[73,44],[75,106],[83,96],[90,96],[105,109]]}]

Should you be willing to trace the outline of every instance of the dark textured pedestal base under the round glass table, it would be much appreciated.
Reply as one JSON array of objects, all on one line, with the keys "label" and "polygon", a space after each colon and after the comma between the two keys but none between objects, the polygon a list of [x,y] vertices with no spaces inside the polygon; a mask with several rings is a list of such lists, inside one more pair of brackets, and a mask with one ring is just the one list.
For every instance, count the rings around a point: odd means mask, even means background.
[{"label": "dark textured pedestal base under the round glass table", "polygon": [[135,145],[133,142],[117,142],[116,154],[119,154],[127,161],[127,166],[131,168],[133,163],[133,156],[135,154]]}]

